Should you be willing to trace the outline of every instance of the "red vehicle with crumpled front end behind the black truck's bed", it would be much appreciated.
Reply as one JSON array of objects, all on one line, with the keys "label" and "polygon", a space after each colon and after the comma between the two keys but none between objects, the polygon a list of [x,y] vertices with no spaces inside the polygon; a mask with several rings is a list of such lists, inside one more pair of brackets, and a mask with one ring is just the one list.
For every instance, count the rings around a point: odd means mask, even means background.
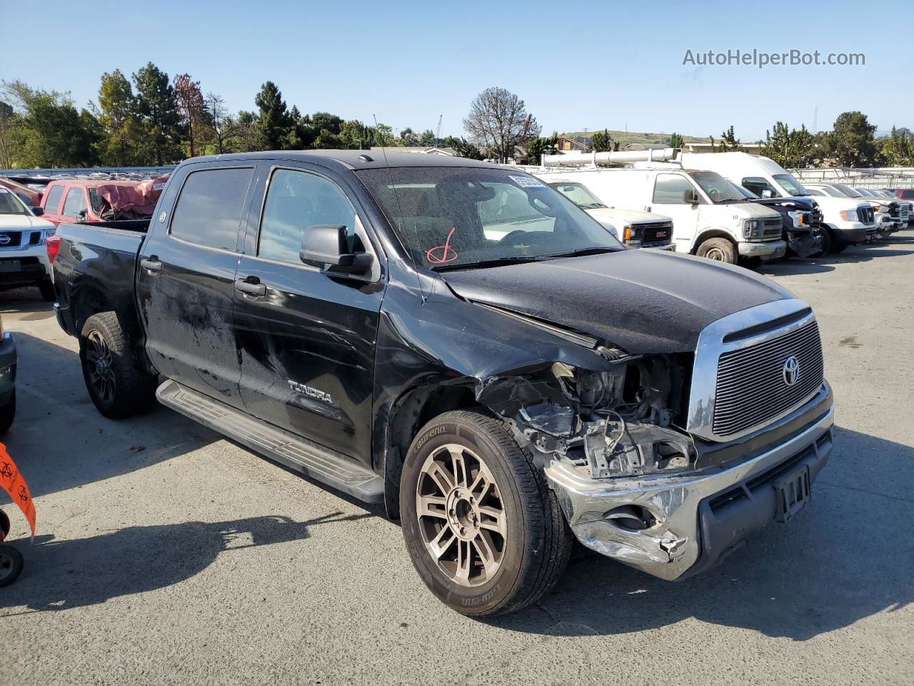
[{"label": "red vehicle with crumpled front end behind the black truck's bed", "polygon": [[44,218],[55,226],[74,221],[149,218],[164,187],[162,179],[51,181],[41,198],[41,209]]}]

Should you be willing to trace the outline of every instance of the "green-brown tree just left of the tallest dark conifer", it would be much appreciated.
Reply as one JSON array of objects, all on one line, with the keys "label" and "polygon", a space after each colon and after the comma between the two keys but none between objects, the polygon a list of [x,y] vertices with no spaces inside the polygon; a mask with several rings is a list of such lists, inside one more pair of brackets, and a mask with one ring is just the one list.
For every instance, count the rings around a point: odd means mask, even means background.
[{"label": "green-brown tree just left of the tallest dark conifer", "polygon": [[136,109],[133,87],[121,70],[101,75],[98,121],[101,124],[101,160],[112,166],[143,164],[143,123]]}]

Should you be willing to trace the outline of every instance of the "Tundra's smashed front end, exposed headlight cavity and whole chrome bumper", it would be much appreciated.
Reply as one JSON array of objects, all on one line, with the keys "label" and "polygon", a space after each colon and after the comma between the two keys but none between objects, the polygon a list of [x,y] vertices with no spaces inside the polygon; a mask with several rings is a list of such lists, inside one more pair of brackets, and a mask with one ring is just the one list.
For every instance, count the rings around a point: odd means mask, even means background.
[{"label": "Tundra's smashed front end, exposed headlight cavity and whole chrome bumper", "polygon": [[593,369],[554,362],[476,387],[591,550],[671,581],[706,569],[774,520],[785,478],[811,484],[831,452],[827,383],[778,421],[786,428],[771,438],[761,434],[776,424],[760,429],[751,449],[734,446],[715,466],[707,439],[686,431],[692,353],[632,355],[597,341],[591,350]]}]

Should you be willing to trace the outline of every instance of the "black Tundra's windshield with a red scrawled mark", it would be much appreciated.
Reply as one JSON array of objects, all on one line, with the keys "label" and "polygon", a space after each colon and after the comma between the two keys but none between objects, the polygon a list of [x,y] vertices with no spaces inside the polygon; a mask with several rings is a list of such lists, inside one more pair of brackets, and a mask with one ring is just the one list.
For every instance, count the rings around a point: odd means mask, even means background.
[{"label": "black Tundra's windshield with a red scrawled mark", "polygon": [[587,212],[519,171],[408,166],[357,174],[413,261],[427,269],[624,250]]}]

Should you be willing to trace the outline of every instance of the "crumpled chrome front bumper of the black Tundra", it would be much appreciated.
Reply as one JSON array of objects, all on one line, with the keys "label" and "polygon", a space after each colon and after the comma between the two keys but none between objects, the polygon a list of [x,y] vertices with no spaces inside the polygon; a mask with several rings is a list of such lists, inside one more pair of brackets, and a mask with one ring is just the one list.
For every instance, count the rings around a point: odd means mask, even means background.
[{"label": "crumpled chrome front bumper of the black Tundra", "polygon": [[[579,467],[553,461],[549,485],[575,536],[585,546],[622,563],[673,581],[714,566],[749,535],[775,520],[775,484],[785,473],[808,468],[813,482],[832,451],[834,407],[775,445],[735,466],[684,476],[593,479]],[[818,402],[822,407],[821,400]],[[792,413],[802,416],[803,407]],[[731,463],[732,464],[732,463]],[[624,506],[654,518],[642,531],[623,528],[608,515]]]}]

